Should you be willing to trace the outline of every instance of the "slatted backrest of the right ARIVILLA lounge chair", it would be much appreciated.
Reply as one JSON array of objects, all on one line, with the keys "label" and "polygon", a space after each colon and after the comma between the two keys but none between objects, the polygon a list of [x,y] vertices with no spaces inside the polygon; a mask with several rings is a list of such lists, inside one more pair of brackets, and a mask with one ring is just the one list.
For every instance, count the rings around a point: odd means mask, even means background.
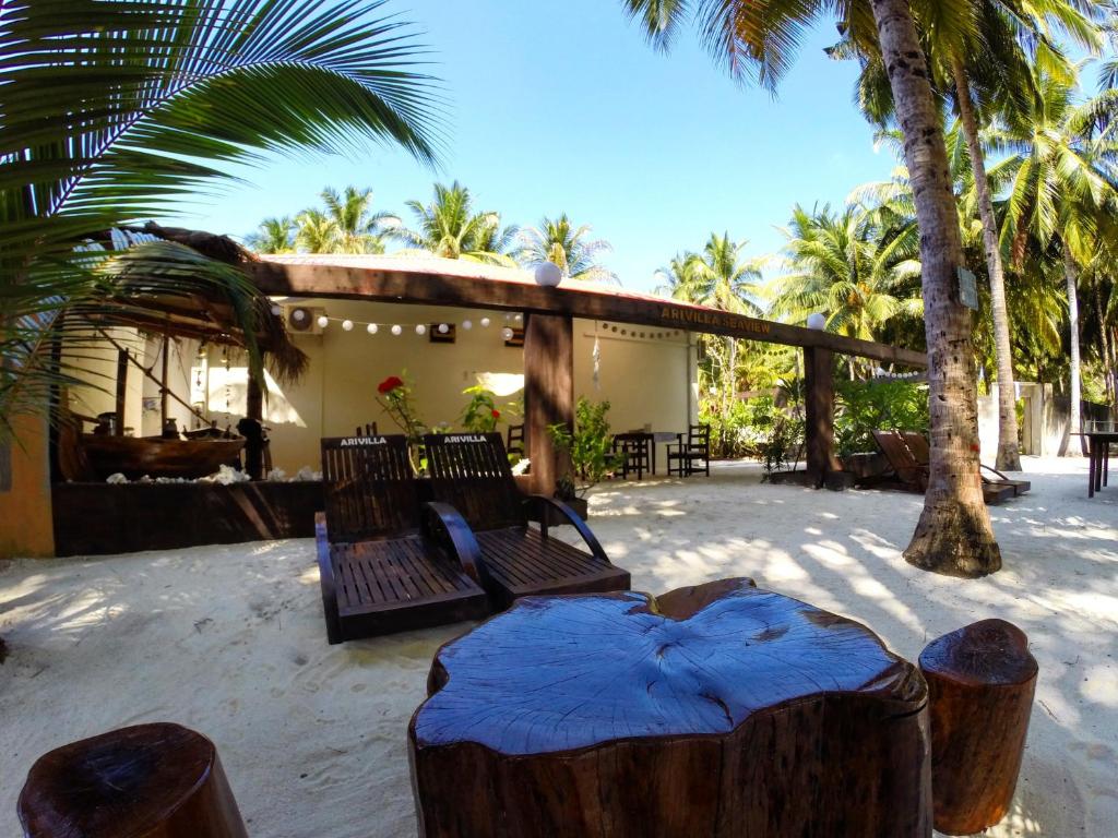
[{"label": "slatted backrest of the right ARIVILLA lounge chair", "polygon": [[454,506],[474,530],[523,523],[523,498],[500,434],[432,434],[424,446],[436,501]]}]

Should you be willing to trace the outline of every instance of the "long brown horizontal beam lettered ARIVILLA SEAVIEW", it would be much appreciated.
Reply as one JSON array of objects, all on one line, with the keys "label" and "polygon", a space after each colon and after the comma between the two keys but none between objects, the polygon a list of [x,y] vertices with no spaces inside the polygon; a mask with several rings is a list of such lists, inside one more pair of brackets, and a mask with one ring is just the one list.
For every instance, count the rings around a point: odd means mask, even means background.
[{"label": "long brown horizontal beam lettered ARIVILLA SEAVIEW", "polygon": [[[376,299],[386,303],[447,305],[635,323],[729,335],[790,346],[822,346],[885,363],[925,368],[923,352],[717,312],[678,301],[601,293],[560,286],[448,276],[407,269],[381,270],[338,265],[256,261],[247,266],[262,292],[275,296]],[[421,273],[421,276],[420,276]],[[527,352],[527,335],[525,335]]]}]

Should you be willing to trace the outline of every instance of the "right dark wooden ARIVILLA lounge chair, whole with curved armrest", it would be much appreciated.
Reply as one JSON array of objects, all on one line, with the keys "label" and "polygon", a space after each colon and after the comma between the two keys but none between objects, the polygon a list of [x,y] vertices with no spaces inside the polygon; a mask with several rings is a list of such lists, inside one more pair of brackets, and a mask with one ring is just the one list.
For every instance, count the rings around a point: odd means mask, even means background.
[{"label": "right dark wooden ARIVILLA lounge chair, whole with curved armrest", "polygon": [[[628,571],[610,564],[586,523],[566,504],[543,495],[524,498],[513,482],[500,434],[432,435],[424,439],[437,501],[473,527],[498,608],[538,593],[627,591]],[[550,511],[550,512],[549,512]],[[571,524],[589,552],[548,535],[548,518]],[[540,528],[529,521],[540,522]]]}]

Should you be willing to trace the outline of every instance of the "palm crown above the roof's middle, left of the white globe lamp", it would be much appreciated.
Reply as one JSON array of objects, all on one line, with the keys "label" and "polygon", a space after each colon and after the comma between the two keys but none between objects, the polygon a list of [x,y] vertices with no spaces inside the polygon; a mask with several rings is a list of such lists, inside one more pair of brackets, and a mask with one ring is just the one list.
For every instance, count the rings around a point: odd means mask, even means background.
[{"label": "palm crown above the roof's middle, left of the white globe lamp", "polygon": [[407,207],[416,217],[415,229],[399,227],[391,235],[413,249],[444,259],[515,264],[509,250],[517,228],[502,227],[496,212],[475,212],[470,190],[457,181],[449,187],[436,183],[430,203],[408,201]]}]

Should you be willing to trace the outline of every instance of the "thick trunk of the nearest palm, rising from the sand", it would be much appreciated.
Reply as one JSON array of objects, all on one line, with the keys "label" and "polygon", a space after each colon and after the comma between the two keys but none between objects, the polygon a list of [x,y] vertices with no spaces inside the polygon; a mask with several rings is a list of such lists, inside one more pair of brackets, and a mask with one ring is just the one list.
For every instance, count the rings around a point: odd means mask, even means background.
[{"label": "thick trunk of the nearest palm, rising from the sand", "polygon": [[958,210],[944,125],[908,0],[871,0],[885,72],[904,135],[920,227],[931,461],[923,512],[904,559],[925,570],[983,577],[1001,569],[978,475],[978,382],[970,311],[959,302]]}]

